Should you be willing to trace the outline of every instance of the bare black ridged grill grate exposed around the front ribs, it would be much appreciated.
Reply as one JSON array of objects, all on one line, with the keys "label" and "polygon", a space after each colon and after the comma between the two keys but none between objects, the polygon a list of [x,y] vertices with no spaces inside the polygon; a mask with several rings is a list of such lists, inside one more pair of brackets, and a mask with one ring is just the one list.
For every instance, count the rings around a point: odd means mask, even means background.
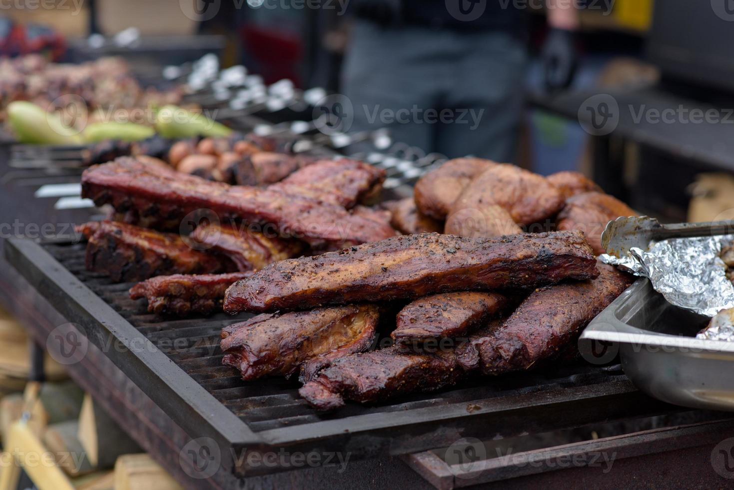
[{"label": "bare black ridged grill grate exposed around the front ribs", "polygon": [[222,365],[219,331],[247,316],[226,317],[225,314],[217,314],[214,317],[186,320],[161,319],[148,314],[145,300],[128,298],[127,291],[132,284],[112,284],[102,275],[85,270],[84,244],[46,245],[46,249],[254,432],[320,422],[333,417],[408,411],[426,406],[540,393],[626,379],[619,365],[593,367],[575,364],[491,380],[477,379],[454,389],[415,394],[382,406],[366,407],[350,403],[336,414],[320,414],[299,397],[297,381],[269,378],[245,382],[241,381],[236,370]]}]

